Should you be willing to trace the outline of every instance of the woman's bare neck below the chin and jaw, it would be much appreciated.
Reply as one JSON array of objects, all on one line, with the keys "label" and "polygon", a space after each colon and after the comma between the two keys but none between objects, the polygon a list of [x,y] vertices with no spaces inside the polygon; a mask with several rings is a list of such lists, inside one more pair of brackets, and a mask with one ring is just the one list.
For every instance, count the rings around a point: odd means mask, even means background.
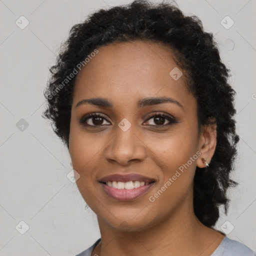
[{"label": "woman's bare neck below the chin and jaw", "polygon": [[[191,195],[190,195],[191,196]],[[189,196],[188,196],[189,197]],[[192,201],[191,198],[187,198]],[[200,255],[208,256],[223,235],[204,226],[184,202],[171,216],[139,231],[120,231],[98,218],[101,241],[95,253],[105,255]]]}]

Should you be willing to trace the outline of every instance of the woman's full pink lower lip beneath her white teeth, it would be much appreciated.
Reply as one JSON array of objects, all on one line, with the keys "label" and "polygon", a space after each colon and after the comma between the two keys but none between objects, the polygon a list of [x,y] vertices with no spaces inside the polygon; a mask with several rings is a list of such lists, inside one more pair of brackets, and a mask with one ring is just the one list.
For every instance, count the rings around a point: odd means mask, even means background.
[{"label": "woman's full pink lower lip beneath her white teeth", "polygon": [[118,189],[108,186],[102,182],[99,183],[102,186],[103,190],[106,192],[106,194],[108,194],[110,197],[116,200],[126,201],[135,199],[145,194],[155,182],[132,189]]}]

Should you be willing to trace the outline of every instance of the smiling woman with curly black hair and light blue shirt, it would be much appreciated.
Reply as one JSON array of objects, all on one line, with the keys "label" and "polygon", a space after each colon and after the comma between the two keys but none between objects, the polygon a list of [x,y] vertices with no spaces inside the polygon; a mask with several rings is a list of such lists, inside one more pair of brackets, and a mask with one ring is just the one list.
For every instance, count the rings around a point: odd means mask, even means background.
[{"label": "smiling woman with curly black hair and light blue shirt", "polygon": [[133,1],[76,24],[45,118],[68,147],[101,238],[81,255],[253,255],[213,228],[236,156],[234,95],[211,33]]}]

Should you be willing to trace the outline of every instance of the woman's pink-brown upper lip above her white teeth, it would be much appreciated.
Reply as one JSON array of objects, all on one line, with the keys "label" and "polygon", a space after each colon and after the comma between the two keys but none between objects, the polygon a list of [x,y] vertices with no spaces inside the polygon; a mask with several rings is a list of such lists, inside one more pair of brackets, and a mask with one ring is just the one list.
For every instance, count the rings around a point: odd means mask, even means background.
[{"label": "woman's pink-brown upper lip above her white teeth", "polygon": [[129,173],[129,174],[112,174],[107,175],[99,179],[100,182],[106,182],[106,181],[121,181],[121,182],[127,182],[127,181],[144,181],[144,182],[152,182],[155,181],[154,178],[150,178],[147,176],[139,175],[136,173]]}]

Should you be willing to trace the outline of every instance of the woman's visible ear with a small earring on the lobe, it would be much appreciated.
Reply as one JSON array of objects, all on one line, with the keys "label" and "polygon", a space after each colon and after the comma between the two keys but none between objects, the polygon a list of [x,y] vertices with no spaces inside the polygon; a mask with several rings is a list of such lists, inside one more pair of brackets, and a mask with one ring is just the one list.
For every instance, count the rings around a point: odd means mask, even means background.
[{"label": "woman's visible ear with a small earring on the lobe", "polygon": [[205,167],[205,162],[202,161],[202,158],[205,158],[208,164],[210,163],[211,157],[213,156],[216,148],[216,119],[210,118],[209,120],[209,124],[201,126],[201,132],[199,134],[198,150],[201,152],[201,155],[196,159],[196,166],[199,168]]}]

